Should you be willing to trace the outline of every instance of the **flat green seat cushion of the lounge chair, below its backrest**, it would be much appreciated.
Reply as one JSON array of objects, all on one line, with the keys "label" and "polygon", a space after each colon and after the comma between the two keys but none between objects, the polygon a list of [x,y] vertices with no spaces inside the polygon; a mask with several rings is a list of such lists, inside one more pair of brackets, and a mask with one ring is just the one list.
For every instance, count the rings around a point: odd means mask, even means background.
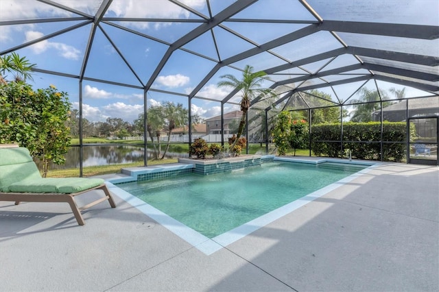
[{"label": "flat green seat cushion of the lounge chair, below its backrest", "polygon": [[77,193],[103,184],[101,178],[40,178],[22,180],[9,186],[14,193]]}]

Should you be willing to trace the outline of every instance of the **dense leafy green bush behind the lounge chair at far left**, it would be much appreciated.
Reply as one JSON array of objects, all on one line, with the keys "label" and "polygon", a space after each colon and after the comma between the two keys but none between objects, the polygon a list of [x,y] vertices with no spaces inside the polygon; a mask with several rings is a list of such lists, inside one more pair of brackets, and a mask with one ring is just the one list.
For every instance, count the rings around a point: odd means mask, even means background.
[{"label": "dense leafy green bush behind the lounge chair at far left", "polygon": [[49,88],[32,90],[24,82],[0,84],[0,143],[17,142],[43,161],[63,164],[70,144],[71,104],[67,93]]}]

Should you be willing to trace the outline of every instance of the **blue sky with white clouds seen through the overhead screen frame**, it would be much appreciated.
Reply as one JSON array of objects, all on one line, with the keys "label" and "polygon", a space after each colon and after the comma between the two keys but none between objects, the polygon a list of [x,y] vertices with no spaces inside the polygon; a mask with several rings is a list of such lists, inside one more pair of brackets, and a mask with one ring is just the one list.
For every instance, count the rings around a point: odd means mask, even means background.
[{"label": "blue sky with white clouds seen through the overhead screen frame", "polygon": [[[372,0],[373,3],[367,1],[368,5],[363,8],[353,7],[352,3],[348,9],[356,10],[364,21],[377,21],[377,18],[388,22],[403,23],[407,17],[412,19],[413,24],[438,25],[439,17],[437,16],[439,1],[436,0],[398,0],[400,6],[398,14],[385,14],[386,9],[390,9],[392,3],[396,0],[379,1]],[[401,2],[402,1],[402,2]],[[95,14],[99,7],[100,1],[94,0],[56,0],[56,3],[65,5],[86,14]],[[205,0],[181,0],[189,7],[198,12],[209,15]],[[213,14],[217,14],[232,0],[215,0],[211,1],[211,9]],[[335,12],[343,14],[342,7],[337,7],[340,1],[331,2],[335,5],[332,9],[328,7],[328,1],[309,0],[308,1],[317,11],[322,11],[325,18],[337,18]],[[344,2],[344,1],[343,1]],[[366,1],[359,1],[366,3]],[[383,3],[384,2],[384,3]],[[396,2],[395,2],[396,3]],[[387,5],[387,6],[386,6]],[[389,6],[390,5],[390,6]],[[422,5],[422,6],[419,6]],[[360,4],[358,6],[361,6]],[[389,7],[388,7],[389,6]],[[418,9],[423,7],[423,9]],[[372,11],[374,10],[374,11]],[[366,13],[367,12],[367,13]],[[377,15],[377,13],[383,15]],[[374,14],[375,13],[375,14]],[[413,17],[414,13],[419,14]],[[347,14],[343,17],[349,17]],[[370,15],[375,15],[375,19]],[[0,0],[0,21],[16,21],[21,19],[47,19],[47,18],[67,18],[77,16],[66,10],[55,8],[51,5],[41,3],[34,0]],[[150,0],[147,2],[139,0],[114,0],[112,1],[105,17],[130,17],[130,18],[151,18],[151,19],[181,19],[181,20],[200,20],[200,16],[192,14],[174,3],[166,0]],[[299,1],[292,0],[261,0],[252,7],[240,12],[237,18],[252,17],[256,19],[294,19],[298,21],[315,21],[316,19],[306,10]],[[348,19],[351,20],[351,19]],[[421,22],[421,23],[419,23]],[[14,24],[0,26],[0,52],[11,47],[21,45],[25,42],[36,40],[45,36],[50,36],[60,29],[79,25],[82,21],[60,21],[41,22],[34,24]],[[144,38],[137,34],[130,34],[117,27],[101,24],[95,34],[93,46],[90,51],[90,58],[85,70],[85,76],[96,78],[99,80],[110,80],[111,82],[120,82],[131,84],[132,86],[141,87],[150,79],[150,76],[161,61],[164,53],[167,51],[169,43],[172,43],[191,29],[198,27],[200,23],[193,22],[140,22],[140,21],[115,21],[117,25],[123,25],[127,29],[151,36],[153,39]],[[230,22],[225,24],[228,29],[241,34],[250,41],[243,40],[228,32],[227,29],[215,27],[215,38],[211,32],[207,32],[199,36],[195,40],[183,46],[184,49],[195,52],[206,58],[200,58],[196,54],[183,50],[177,50],[172,53],[171,57],[158,73],[158,77],[152,84],[152,90],[147,92],[147,106],[156,106],[163,104],[165,101],[173,101],[181,103],[187,108],[188,98],[193,88],[198,86],[204,76],[213,69],[216,60],[224,60],[234,56],[241,51],[252,49],[257,45],[273,40],[279,36],[288,34],[309,24],[304,23],[238,23]],[[91,25],[78,27],[71,32],[66,32],[57,36],[37,42],[36,44],[19,49],[16,51],[20,56],[25,56],[30,62],[36,64],[38,69],[67,73],[71,75],[79,75],[82,63],[84,62],[84,53],[86,51],[86,43],[91,32]],[[109,36],[110,40],[107,38]],[[357,41],[356,36],[346,34],[344,38],[351,42]],[[159,40],[159,41],[156,41]],[[401,41],[396,40],[392,44],[382,43],[379,38],[374,38],[370,42],[377,42],[379,47],[383,49],[394,49],[402,51]],[[215,42],[218,51],[215,49]],[[316,43],[319,45],[316,46]],[[418,40],[413,43],[420,53],[429,56],[436,56],[437,51],[432,50],[431,42],[427,43]],[[434,43],[435,45],[437,42]],[[356,44],[355,44],[356,45]],[[439,44],[438,44],[439,45]],[[275,54],[284,56],[289,61],[307,58],[316,53],[335,49],[340,47],[340,43],[335,41],[329,32],[319,32],[313,36],[296,40],[291,44],[285,44],[277,47],[272,51]],[[392,46],[392,47],[386,47]],[[437,49],[437,47],[436,47]],[[237,69],[243,69],[246,64],[252,64],[255,70],[262,70],[285,64],[286,61],[278,58],[275,54],[261,53],[257,56],[240,60],[232,65]],[[123,61],[123,58],[136,72],[137,76],[132,73],[130,67]],[[210,58],[210,60],[209,60]],[[308,71],[313,71],[328,62],[323,60],[318,64],[309,64],[305,66]],[[337,62],[342,64],[353,64],[357,62],[346,57],[337,58]],[[330,66],[330,65],[329,65]],[[219,100],[226,97],[232,88],[220,88],[217,86],[224,74],[241,75],[241,72],[231,67],[223,67],[213,75],[211,80],[202,86],[201,90],[196,93],[196,97],[191,100],[191,110],[193,114],[200,117],[209,118],[217,116],[221,113],[221,105]],[[301,69],[292,69],[283,74],[287,77],[297,77],[303,75],[305,71]],[[353,75],[364,74],[364,72],[352,72]],[[69,100],[74,108],[79,107],[79,83],[78,79],[61,77],[57,75],[49,75],[44,73],[35,73],[33,84],[34,88],[46,88],[54,84],[58,90],[67,92]],[[285,77],[283,76],[283,77]],[[276,76],[272,76],[276,80]],[[268,87],[273,82],[265,82],[264,86]],[[340,92],[337,93],[340,99],[346,100],[351,96],[361,84],[350,84],[339,86]],[[387,84],[381,82],[379,87],[388,88],[396,87],[395,84]],[[175,93],[175,94],[169,94]],[[186,95],[186,96],[185,96]],[[425,95],[425,93],[409,88],[407,97]],[[125,121],[134,121],[143,112],[143,90],[139,88],[130,88],[124,86],[115,86],[102,82],[93,82],[84,80],[82,82],[82,98],[83,98],[83,116],[89,121],[105,121],[108,117],[120,117]],[[232,101],[237,101],[239,97],[235,96]],[[333,95],[333,99],[335,99]],[[206,100],[209,99],[209,100]],[[239,110],[234,104],[226,104],[224,112],[231,110]]]}]

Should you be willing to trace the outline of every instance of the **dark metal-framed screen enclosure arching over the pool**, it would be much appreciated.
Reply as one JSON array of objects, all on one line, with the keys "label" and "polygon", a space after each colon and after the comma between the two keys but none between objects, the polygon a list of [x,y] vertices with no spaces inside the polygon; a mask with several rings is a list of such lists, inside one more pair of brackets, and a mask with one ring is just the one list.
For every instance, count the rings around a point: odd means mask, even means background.
[{"label": "dark metal-framed screen enclosure arching over the pool", "polygon": [[[386,160],[386,147],[399,144],[400,161],[438,163],[436,0],[2,0],[0,56],[13,52],[36,64],[34,88],[54,84],[69,94],[78,121],[69,160],[78,175],[83,167],[128,160],[147,165],[147,109],[167,102],[187,109],[189,125],[193,117],[221,117],[224,133],[224,114],[239,110],[241,95],[217,84],[246,65],[264,71],[264,86],[276,92],[253,99],[248,112],[245,136],[263,145],[260,153],[275,151],[271,125],[289,110],[309,123],[309,145],[333,145],[337,155],[375,143],[378,153],[368,159]],[[367,106],[372,110],[359,119]],[[313,127],[329,123],[317,120],[328,109],[338,134],[311,141]],[[344,124],[354,121],[377,121],[381,134],[353,141]],[[418,134],[387,138],[386,121],[405,123],[407,132],[413,124]],[[121,128],[131,148],[100,143],[97,154],[88,138],[112,138]],[[190,144],[204,135],[209,129],[187,127],[171,138]],[[221,135],[211,142],[225,141]]]}]

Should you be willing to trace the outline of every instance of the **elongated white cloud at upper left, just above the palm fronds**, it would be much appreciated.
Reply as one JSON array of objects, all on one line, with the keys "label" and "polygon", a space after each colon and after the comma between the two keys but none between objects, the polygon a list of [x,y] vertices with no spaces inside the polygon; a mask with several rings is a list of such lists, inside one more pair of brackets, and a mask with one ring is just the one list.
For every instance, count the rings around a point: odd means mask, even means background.
[{"label": "elongated white cloud at upper left, just above the palm fronds", "polygon": [[[43,37],[42,32],[27,31],[25,32],[26,41],[36,40],[37,38]],[[49,40],[42,40],[30,47],[34,53],[44,53],[47,49],[56,49],[60,56],[69,60],[79,60],[81,51],[75,47],[63,44],[62,42],[49,42]]]}]

